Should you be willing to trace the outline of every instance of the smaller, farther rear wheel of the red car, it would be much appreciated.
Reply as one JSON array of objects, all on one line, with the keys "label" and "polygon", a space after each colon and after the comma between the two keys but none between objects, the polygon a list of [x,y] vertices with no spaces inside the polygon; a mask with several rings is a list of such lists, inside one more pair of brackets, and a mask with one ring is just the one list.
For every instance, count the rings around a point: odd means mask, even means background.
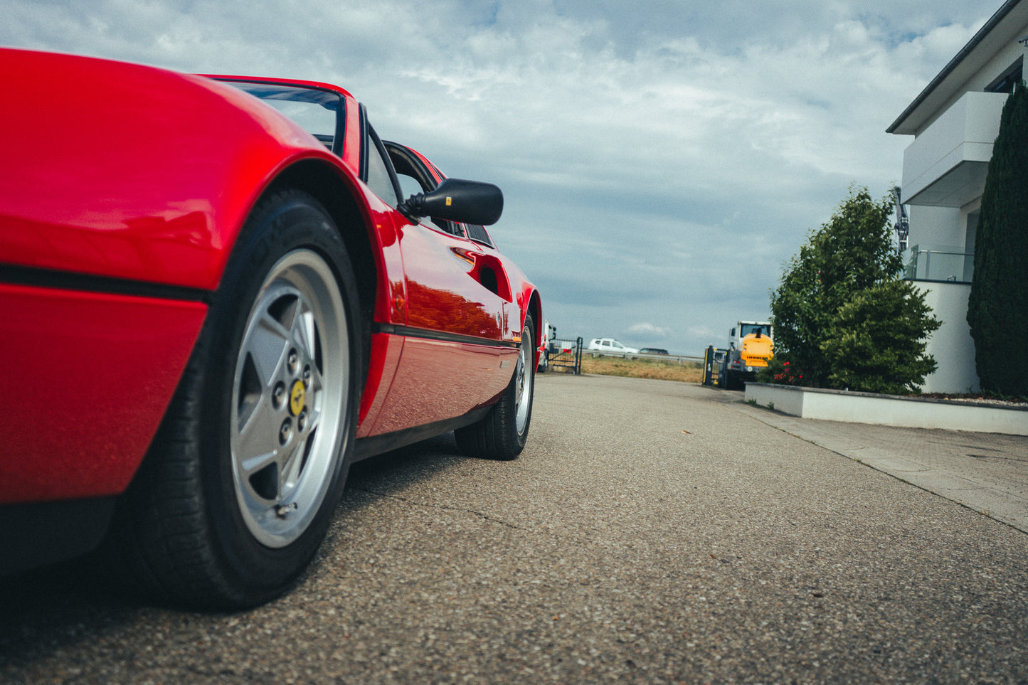
[{"label": "smaller, farther rear wheel of the red car", "polygon": [[516,459],[524,449],[531,424],[531,398],[536,365],[531,363],[536,327],[526,315],[521,328],[521,350],[510,385],[481,421],[453,431],[456,444],[470,457]]}]

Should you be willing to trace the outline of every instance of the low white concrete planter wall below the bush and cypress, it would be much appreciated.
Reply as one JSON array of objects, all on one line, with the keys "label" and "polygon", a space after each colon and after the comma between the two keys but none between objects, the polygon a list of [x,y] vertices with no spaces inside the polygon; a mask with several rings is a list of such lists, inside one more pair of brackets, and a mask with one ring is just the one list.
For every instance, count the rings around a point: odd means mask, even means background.
[{"label": "low white concrete planter wall below the bush and cypress", "polygon": [[747,383],[746,401],[803,419],[1028,435],[1028,406]]}]

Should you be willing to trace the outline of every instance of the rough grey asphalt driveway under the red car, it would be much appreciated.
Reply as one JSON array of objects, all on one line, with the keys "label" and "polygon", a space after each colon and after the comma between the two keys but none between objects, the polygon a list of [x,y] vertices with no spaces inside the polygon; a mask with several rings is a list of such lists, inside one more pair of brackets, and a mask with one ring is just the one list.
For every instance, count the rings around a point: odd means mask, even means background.
[{"label": "rough grey asphalt driveway under the red car", "polygon": [[0,581],[0,682],[1028,682],[1025,533],[740,393],[538,381],[519,460],[360,465],[256,611],[128,604],[75,564]]}]

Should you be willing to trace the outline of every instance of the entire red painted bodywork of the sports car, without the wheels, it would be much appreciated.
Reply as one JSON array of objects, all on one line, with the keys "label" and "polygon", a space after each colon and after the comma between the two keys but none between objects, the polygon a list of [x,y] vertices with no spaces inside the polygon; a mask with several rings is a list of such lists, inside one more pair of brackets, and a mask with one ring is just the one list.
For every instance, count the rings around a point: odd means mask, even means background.
[{"label": "entire red painted bodywork of the sports car, without the wheels", "polygon": [[299,169],[356,206],[374,262],[358,438],[460,417],[506,388],[539,295],[493,248],[412,225],[360,180],[365,131],[345,91],[281,81],[344,99],[339,156],[203,76],[6,48],[0,74],[0,504],[124,491],[249,213]]}]

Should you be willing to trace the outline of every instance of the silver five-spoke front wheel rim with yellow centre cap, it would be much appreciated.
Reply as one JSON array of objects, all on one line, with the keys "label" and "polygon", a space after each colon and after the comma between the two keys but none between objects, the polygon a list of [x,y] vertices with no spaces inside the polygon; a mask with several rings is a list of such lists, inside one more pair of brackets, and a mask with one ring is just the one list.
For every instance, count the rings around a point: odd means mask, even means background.
[{"label": "silver five-spoke front wheel rim with yellow centre cap", "polygon": [[258,292],[232,385],[235,497],[261,544],[292,543],[321,508],[341,459],[348,369],[335,276],[317,253],[294,250]]}]

